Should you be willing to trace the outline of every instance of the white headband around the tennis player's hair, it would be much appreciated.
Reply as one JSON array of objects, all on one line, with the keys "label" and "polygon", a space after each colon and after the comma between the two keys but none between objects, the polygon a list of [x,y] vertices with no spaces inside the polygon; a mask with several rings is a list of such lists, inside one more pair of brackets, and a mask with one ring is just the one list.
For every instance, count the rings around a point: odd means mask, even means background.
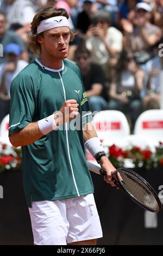
[{"label": "white headband around the tennis player's hair", "polygon": [[37,27],[37,34],[47,31],[51,28],[57,27],[68,27],[70,28],[70,24],[65,16],[55,16],[40,22],[40,25]]}]

